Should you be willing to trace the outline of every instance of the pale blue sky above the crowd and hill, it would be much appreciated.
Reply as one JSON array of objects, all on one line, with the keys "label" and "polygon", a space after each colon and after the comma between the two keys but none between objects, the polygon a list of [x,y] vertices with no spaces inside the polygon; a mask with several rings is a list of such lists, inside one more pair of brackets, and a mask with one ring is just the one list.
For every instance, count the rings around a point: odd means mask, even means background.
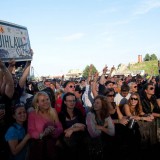
[{"label": "pale blue sky above the crowd and hill", "polygon": [[160,0],[5,0],[0,19],[28,28],[36,76],[160,58]]}]

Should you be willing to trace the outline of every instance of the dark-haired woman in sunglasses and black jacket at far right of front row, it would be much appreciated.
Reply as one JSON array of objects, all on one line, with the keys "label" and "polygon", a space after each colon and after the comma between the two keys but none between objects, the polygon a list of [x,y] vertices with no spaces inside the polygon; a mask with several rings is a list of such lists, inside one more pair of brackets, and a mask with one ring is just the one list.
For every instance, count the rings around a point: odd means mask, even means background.
[{"label": "dark-haired woman in sunglasses and black jacket at far right of front row", "polygon": [[142,125],[145,126],[143,128],[143,134],[145,136],[145,142],[148,142],[149,139],[149,146],[156,144],[157,139],[159,139],[159,135],[157,134],[157,130],[159,128],[159,121],[160,121],[160,99],[158,99],[155,95],[155,86],[153,83],[146,83],[143,86],[143,90],[141,93],[141,102],[142,108],[146,115],[152,115],[154,117],[154,121],[152,123],[144,123]]}]

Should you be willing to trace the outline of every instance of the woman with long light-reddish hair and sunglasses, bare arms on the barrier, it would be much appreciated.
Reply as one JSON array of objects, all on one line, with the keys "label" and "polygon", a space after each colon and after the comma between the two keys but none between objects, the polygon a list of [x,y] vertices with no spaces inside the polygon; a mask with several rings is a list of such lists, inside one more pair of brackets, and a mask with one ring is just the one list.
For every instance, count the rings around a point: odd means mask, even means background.
[{"label": "woman with long light-reddish hair and sunglasses, bare arms on the barrier", "polygon": [[[124,113],[129,117],[129,125],[133,124],[134,122],[133,128],[136,135],[135,141],[139,139],[140,144],[142,144],[144,140],[146,141],[145,137],[152,136],[147,134],[151,131],[150,128],[152,127],[154,117],[151,114],[145,114],[143,112],[138,93],[131,94],[128,103],[124,105]],[[154,131],[152,130],[151,132]],[[151,141],[152,138],[150,137],[149,139]]]}]

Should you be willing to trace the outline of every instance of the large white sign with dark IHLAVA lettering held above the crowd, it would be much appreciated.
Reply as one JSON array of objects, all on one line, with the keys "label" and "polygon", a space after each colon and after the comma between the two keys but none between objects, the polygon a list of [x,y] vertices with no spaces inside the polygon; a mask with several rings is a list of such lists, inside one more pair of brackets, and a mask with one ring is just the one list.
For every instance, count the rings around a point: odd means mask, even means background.
[{"label": "large white sign with dark IHLAVA lettering held above the crowd", "polygon": [[28,30],[24,26],[0,21],[0,59],[8,62],[32,60]]}]

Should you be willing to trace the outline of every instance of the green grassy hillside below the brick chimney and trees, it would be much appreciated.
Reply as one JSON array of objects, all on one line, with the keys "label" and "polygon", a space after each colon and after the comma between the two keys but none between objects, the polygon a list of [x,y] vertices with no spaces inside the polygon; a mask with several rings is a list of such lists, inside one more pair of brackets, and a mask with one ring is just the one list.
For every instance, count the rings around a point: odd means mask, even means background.
[{"label": "green grassy hillside below the brick chimney and trees", "polygon": [[158,75],[158,61],[144,61],[141,63],[129,64],[127,69],[129,71],[136,71],[136,70],[145,70],[145,73],[149,75]]}]

